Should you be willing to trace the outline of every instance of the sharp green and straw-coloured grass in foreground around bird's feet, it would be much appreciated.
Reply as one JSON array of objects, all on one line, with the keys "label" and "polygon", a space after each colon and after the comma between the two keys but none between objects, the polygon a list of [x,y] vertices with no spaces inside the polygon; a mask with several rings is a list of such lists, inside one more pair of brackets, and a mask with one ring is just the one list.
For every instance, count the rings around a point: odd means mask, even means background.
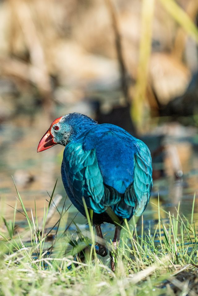
[{"label": "sharp green and straw-coloured grass in foreground around bird's feet", "polygon": [[[96,255],[97,237],[90,219],[86,234],[77,225],[76,231],[71,233],[65,226],[68,209],[63,206],[55,226],[47,229],[45,223],[50,204],[53,205],[54,190],[48,207],[44,209],[42,227],[38,223],[36,203],[35,214],[31,210],[28,216],[18,191],[27,228],[23,233],[16,233],[16,206],[13,221],[2,218],[6,232],[0,233],[1,296],[197,295],[195,202],[189,220],[179,212],[179,206],[176,216],[169,212],[166,213],[167,219],[161,219],[162,210],[158,205],[155,229],[144,229],[143,217],[140,231],[135,219],[125,222],[118,248],[117,270],[113,273]],[[52,233],[53,239],[49,240]],[[92,246],[85,261],[77,261],[75,254],[90,243]],[[112,249],[111,242],[108,248]]]}]

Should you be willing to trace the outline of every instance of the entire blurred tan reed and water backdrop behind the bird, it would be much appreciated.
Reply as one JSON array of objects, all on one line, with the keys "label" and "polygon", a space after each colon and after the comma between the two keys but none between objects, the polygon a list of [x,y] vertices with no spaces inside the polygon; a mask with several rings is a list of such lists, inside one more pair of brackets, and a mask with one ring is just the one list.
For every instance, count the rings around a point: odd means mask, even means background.
[{"label": "entire blurred tan reed and water backdrop behind the bird", "polygon": [[[197,25],[197,0],[1,0],[4,216],[12,217],[16,202],[11,176],[29,211],[36,199],[39,219],[57,178],[57,206],[64,202],[63,147],[37,154],[37,145],[52,120],[71,112],[119,125],[149,146],[148,223],[158,219],[158,194],[166,211],[180,201],[190,215],[198,189]],[[71,206],[68,219],[75,215]],[[24,226],[21,213],[16,220]]]}]

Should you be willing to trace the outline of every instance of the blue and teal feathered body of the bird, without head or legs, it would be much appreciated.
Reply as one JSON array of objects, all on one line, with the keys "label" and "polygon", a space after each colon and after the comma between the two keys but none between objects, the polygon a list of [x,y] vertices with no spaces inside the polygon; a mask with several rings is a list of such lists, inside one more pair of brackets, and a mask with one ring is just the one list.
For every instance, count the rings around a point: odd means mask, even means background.
[{"label": "blue and teal feathered body of the bird, without head or legs", "polygon": [[83,214],[82,197],[99,215],[104,216],[110,206],[119,217],[130,219],[134,214],[141,215],[149,201],[149,149],[120,127],[96,125],[66,146],[62,180],[71,201]]}]

